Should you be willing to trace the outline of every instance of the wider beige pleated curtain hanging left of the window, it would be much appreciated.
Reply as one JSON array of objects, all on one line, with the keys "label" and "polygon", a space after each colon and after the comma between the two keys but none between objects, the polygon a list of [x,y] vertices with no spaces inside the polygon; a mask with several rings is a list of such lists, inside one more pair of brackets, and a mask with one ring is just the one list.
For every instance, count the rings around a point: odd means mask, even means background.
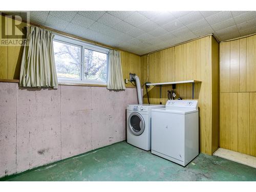
[{"label": "wider beige pleated curtain hanging left of the window", "polygon": [[50,31],[30,27],[27,46],[24,48],[20,67],[20,87],[52,87],[57,89],[53,37]]}]

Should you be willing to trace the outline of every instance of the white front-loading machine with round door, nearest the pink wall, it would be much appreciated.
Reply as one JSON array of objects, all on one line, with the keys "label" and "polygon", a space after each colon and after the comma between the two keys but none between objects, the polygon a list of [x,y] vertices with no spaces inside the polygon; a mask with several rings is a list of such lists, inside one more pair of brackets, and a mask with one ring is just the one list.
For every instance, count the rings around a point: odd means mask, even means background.
[{"label": "white front-loading machine with round door, nearest the pink wall", "polygon": [[127,143],[151,150],[151,110],[164,107],[159,104],[127,105]]}]

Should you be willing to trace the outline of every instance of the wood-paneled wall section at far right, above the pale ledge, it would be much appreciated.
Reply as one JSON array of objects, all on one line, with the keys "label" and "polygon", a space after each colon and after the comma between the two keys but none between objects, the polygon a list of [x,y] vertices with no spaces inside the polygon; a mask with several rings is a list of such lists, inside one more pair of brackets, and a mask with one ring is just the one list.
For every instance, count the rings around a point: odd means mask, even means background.
[{"label": "wood-paneled wall section at far right, above the pale ledge", "polygon": [[220,44],[220,147],[256,156],[256,35]]}]

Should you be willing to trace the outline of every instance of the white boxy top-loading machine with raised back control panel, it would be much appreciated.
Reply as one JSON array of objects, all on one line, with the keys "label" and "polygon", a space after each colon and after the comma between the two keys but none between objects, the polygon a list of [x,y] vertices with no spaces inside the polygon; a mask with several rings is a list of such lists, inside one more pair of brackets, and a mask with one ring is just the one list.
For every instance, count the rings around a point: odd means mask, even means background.
[{"label": "white boxy top-loading machine with raised back control panel", "polygon": [[186,166],[199,154],[197,100],[168,100],[152,110],[151,153]]}]

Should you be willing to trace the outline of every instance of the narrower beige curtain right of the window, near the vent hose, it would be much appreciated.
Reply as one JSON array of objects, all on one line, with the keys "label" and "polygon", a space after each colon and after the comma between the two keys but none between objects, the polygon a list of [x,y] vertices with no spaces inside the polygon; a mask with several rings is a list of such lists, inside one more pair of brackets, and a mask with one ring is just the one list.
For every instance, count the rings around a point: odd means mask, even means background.
[{"label": "narrower beige curtain right of the window, near the vent hose", "polygon": [[110,50],[109,53],[109,71],[107,88],[109,90],[125,90],[123,81],[120,52]]}]

